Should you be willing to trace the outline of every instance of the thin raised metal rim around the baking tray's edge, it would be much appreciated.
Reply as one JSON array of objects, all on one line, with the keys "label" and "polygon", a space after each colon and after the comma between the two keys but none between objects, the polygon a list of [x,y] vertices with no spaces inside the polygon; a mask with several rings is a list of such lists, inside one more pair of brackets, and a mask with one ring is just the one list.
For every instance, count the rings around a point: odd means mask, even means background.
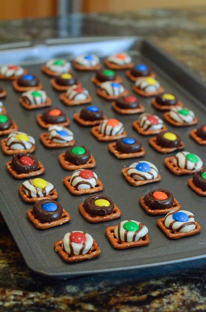
[{"label": "thin raised metal rim around the baking tray's edge", "polygon": [[[78,44],[78,43],[83,43],[81,40],[83,40],[85,42],[88,42],[88,40],[89,40],[89,42],[94,42],[95,43],[97,39],[100,42],[102,42],[102,40],[111,41],[111,40],[114,40],[114,39],[117,39],[117,40],[132,39],[132,40],[134,40],[135,44],[137,44],[137,41],[138,41],[138,43],[140,44],[141,49],[142,49],[142,47],[145,48],[145,49],[143,49],[141,51],[142,52],[146,52],[146,53],[148,52],[149,49],[152,48],[154,51],[156,51],[157,54],[161,54],[164,57],[164,59],[169,61],[170,65],[172,65],[172,66],[174,65],[174,68],[178,68],[180,70],[179,73],[181,73],[181,75],[187,75],[189,77],[189,79],[190,79],[190,82],[191,83],[195,83],[195,85],[200,90],[200,92],[198,93],[198,97],[195,97],[195,98],[197,100],[199,100],[200,102],[203,101],[203,92],[206,91],[206,86],[204,85],[204,82],[201,81],[201,78],[198,78],[194,74],[191,74],[189,72],[189,70],[182,63],[180,63],[178,60],[174,59],[167,52],[165,52],[163,49],[157,47],[153,42],[151,42],[148,39],[144,39],[144,38],[141,38],[141,37],[138,37],[138,36],[131,36],[131,37],[121,37],[121,36],[117,36],[117,37],[114,37],[114,36],[109,37],[108,36],[107,37],[106,36],[106,37],[91,37],[91,38],[84,37],[84,38],[76,38],[76,39],[71,39],[71,40],[68,39],[68,42],[66,42],[66,43],[65,43],[65,41],[67,41],[67,40],[63,40],[63,41],[64,41],[64,44],[72,44],[73,42]],[[61,45],[61,42],[60,42],[61,39],[56,39],[56,42],[57,41],[58,41],[58,44]],[[47,42],[47,44],[48,44],[48,42]],[[52,45],[52,43],[49,43],[49,44]],[[31,48],[35,48],[35,45],[31,45],[30,47]],[[11,49],[12,50],[13,49],[16,50],[17,48],[14,46],[13,48],[10,47],[9,50],[11,50]],[[21,47],[19,49],[21,49]],[[1,51],[4,51],[4,53],[5,53],[5,51],[7,51],[7,49],[5,49],[5,50],[2,49],[2,50],[0,50],[0,52]],[[155,60],[153,60],[153,61],[155,63]],[[175,70],[174,70],[174,72],[175,72]],[[174,78],[174,77],[175,76],[172,76],[172,78]],[[187,84],[187,86],[188,85],[190,86],[190,84]],[[188,88],[187,86],[184,87],[184,89],[186,89],[189,92],[189,94],[192,95],[191,88]],[[0,207],[2,207],[2,205],[8,206],[8,204],[6,202],[6,199],[4,198],[4,195],[2,194],[1,191],[0,191],[0,194],[1,194]],[[1,208],[0,208],[0,211],[1,211]],[[2,213],[2,211],[1,211],[1,214],[3,215],[5,221],[9,218],[8,216],[5,216],[5,214]],[[10,213],[10,215],[11,215],[11,213]],[[8,221],[6,221],[6,223],[7,222]],[[9,228],[11,234],[12,234],[12,230],[10,229],[10,226],[9,226],[8,223],[7,223],[7,226],[8,226],[8,228]],[[19,227],[18,227],[18,231],[17,232],[18,232],[18,235],[22,234],[22,231],[21,231],[21,229]],[[13,236],[13,234],[12,234],[12,236]],[[24,239],[25,239],[25,237],[24,237]],[[16,241],[15,237],[14,237],[14,240]],[[26,241],[26,239],[25,239],[25,241]],[[21,252],[22,247],[19,246],[18,243],[17,243],[17,246],[18,246],[18,248],[19,248],[19,250]],[[30,251],[30,253],[31,253],[31,250],[29,248],[30,246],[26,246],[26,247],[27,247],[26,249],[28,250],[28,252]],[[25,246],[24,246],[24,248],[25,248]],[[24,253],[25,253],[25,250],[24,250]],[[21,252],[21,254],[22,254],[22,252]],[[34,256],[34,254],[33,254],[33,256]],[[194,255],[194,256],[191,256],[191,257],[187,257],[187,258],[181,259],[181,262],[190,262],[190,261],[194,261],[194,260],[197,260],[197,259],[199,260],[199,259],[202,259],[202,258],[205,258],[205,257],[206,257],[206,254]],[[143,264],[143,265],[137,265],[137,266],[132,266],[132,267],[121,267],[121,268],[115,268],[115,269],[112,268],[112,269],[100,269],[100,270],[87,270],[87,271],[81,271],[79,273],[75,272],[73,274],[72,273],[66,273],[66,274],[65,273],[49,273],[49,272],[46,272],[46,267],[44,269],[40,270],[39,268],[37,268],[37,266],[36,266],[36,268],[34,268],[34,263],[32,265],[30,263],[30,260],[27,259],[25,261],[26,261],[28,267],[30,269],[32,269],[33,271],[35,271],[36,273],[40,273],[42,275],[50,276],[50,277],[53,277],[53,278],[65,278],[65,277],[66,278],[70,278],[70,277],[74,277],[74,276],[80,276],[80,275],[91,274],[91,273],[92,274],[96,274],[96,273],[105,273],[105,272],[127,271],[127,270],[134,270],[134,269],[135,270],[141,270],[143,268],[144,269],[149,269],[149,268],[153,268],[153,267],[166,266],[166,265],[171,265],[171,264],[178,264],[180,259],[178,259],[178,260],[171,260],[171,261],[162,261],[162,262],[151,263],[151,264],[146,264],[146,265]]]}]

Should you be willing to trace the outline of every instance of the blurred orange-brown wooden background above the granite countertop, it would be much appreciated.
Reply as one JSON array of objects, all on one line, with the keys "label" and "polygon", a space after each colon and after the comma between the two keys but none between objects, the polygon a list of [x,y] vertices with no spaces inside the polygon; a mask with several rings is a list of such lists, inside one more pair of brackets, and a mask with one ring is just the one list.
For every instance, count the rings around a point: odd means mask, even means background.
[{"label": "blurred orange-brown wooden background above the granite countertop", "polygon": [[0,0],[0,20],[41,18],[65,12],[126,12],[206,5],[206,0]]}]

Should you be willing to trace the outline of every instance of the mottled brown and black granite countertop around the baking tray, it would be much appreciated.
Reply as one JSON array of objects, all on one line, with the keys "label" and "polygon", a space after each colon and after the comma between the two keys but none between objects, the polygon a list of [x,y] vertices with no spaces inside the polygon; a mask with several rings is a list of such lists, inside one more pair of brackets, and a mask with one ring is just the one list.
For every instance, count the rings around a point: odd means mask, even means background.
[{"label": "mottled brown and black granite countertop around the baking tray", "polygon": [[[206,6],[0,22],[0,42],[80,36],[151,39],[206,81]],[[0,217],[0,311],[206,311],[204,260],[167,274],[148,270],[53,280],[32,272]],[[137,310],[138,309],[138,310]]]}]

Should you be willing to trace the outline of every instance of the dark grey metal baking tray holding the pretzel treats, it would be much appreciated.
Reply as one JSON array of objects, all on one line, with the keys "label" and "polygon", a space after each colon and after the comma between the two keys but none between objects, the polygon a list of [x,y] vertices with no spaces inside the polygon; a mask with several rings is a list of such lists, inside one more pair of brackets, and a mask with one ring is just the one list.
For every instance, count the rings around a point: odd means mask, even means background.
[{"label": "dark grey metal baking tray holding the pretzel treats", "polygon": [[[187,185],[189,176],[174,176],[164,165],[163,155],[155,152],[148,144],[149,137],[140,136],[133,128],[132,122],[139,115],[119,115],[106,101],[96,94],[97,87],[90,81],[94,73],[76,72],[82,85],[86,87],[92,98],[92,105],[103,109],[108,118],[119,119],[130,137],[141,140],[146,155],[141,158],[157,166],[161,174],[161,181],[139,187],[133,187],[121,174],[121,169],[128,167],[135,159],[118,159],[108,151],[108,143],[98,141],[85,128],[73,121],[72,116],[79,112],[83,106],[68,107],[59,99],[59,93],[51,87],[50,78],[41,72],[41,65],[53,57],[64,57],[70,61],[82,53],[95,53],[103,59],[116,52],[128,52],[134,63],[144,62],[150,65],[166,92],[175,94],[186,107],[195,112],[199,125],[206,120],[205,95],[206,86],[181,64],[168,56],[148,40],[138,37],[107,37],[107,38],[79,38],[79,39],[53,39],[38,45],[28,43],[26,46],[15,45],[0,49],[0,64],[17,63],[23,65],[30,73],[36,74],[43,83],[43,89],[52,99],[52,106],[59,107],[66,112],[71,123],[69,129],[74,133],[77,145],[85,145],[96,159],[97,165],[93,169],[103,182],[102,194],[109,196],[120,208],[122,215],[119,219],[92,224],[86,221],[78,211],[80,203],[87,195],[71,195],[64,186],[62,179],[71,172],[65,171],[58,162],[58,155],[67,149],[47,149],[39,141],[39,135],[45,132],[35,121],[38,114],[44,109],[29,111],[18,102],[20,94],[15,92],[10,81],[0,81],[8,92],[2,99],[8,113],[15,119],[19,131],[26,132],[36,140],[34,155],[44,164],[45,174],[42,176],[52,182],[56,187],[58,201],[71,215],[69,223],[47,230],[38,230],[26,216],[26,211],[32,204],[25,203],[18,194],[18,187],[22,180],[16,180],[7,171],[5,164],[11,156],[0,152],[0,211],[3,215],[27,265],[36,273],[55,278],[69,278],[84,274],[117,272],[121,270],[145,270],[160,266],[175,265],[183,261],[197,260],[206,257],[206,214],[205,198],[196,195]],[[75,72],[75,70],[74,70]],[[123,85],[132,92],[133,82],[125,76],[125,71],[118,71],[123,78]],[[163,113],[155,110],[151,105],[151,98],[138,97],[145,106],[145,112],[154,113],[162,117]],[[198,145],[189,137],[189,131],[195,126],[177,128],[165,122],[167,128],[176,132],[185,143],[185,150],[199,155],[206,163],[205,146]],[[170,155],[175,155],[172,153]],[[182,209],[194,213],[202,232],[197,235],[171,240],[157,227],[156,221],[162,216],[147,214],[139,205],[139,197],[154,188],[164,188],[172,192],[181,203]],[[107,226],[116,225],[124,219],[135,219],[144,223],[149,229],[150,244],[139,248],[126,250],[114,249],[104,231]],[[68,264],[54,251],[54,242],[63,238],[64,234],[72,230],[84,230],[91,234],[101,247],[99,257],[78,263]]]}]

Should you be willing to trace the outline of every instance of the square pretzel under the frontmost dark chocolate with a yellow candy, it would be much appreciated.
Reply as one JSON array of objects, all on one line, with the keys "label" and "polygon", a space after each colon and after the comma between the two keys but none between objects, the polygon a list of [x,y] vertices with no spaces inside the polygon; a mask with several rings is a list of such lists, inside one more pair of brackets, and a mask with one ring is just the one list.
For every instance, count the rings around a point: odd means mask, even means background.
[{"label": "square pretzel under the frontmost dark chocolate with a yellow candy", "polygon": [[121,216],[121,211],[117,207],[116,204],[114,204],[114,209],[113,209],[112,213],[109,215],[90,215],[86,212],[86,210],[84,208],[84,203],[79,204],[79,211],[84,216],[84,218],[91,223],[110,221],[113,219],[120,218],[120,216]]}]

